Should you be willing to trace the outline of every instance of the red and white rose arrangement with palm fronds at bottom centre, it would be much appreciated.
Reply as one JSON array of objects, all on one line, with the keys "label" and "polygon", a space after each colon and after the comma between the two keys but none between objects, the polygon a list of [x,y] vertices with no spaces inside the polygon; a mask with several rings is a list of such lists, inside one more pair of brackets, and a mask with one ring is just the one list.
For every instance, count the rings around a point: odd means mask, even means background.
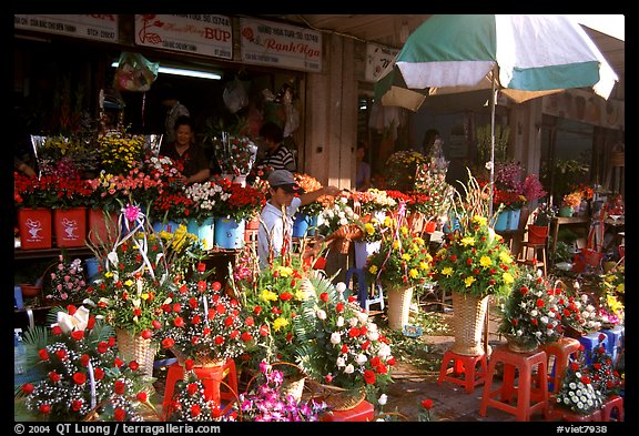
[{"label": "red and white rose arrangement with palm fronds at bottom centre", "polygon": [[[392,379],[395,357],[389,341],[353,296],[346,285],[320,274],[308,276],[303,288],[308,298],[296,318],[300,332],[297,363],[326,387],[324,400],[333,408],[339,392],[377,398]],[[342,398],[341,398],[342,400]]]}]

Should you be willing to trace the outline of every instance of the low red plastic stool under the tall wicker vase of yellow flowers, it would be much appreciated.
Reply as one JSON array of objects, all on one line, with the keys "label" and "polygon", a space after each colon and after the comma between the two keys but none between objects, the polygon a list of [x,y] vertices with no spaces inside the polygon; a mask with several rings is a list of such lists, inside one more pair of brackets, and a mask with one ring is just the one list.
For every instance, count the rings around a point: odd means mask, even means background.
[{"label": "low red plastic stool under the tall wicker vase of yellow flowers", "polygon": [[[453,367],[449,367],[450,363],[453,363]],[[479,364],[479,369],[477,369],[477,364]],[[475,391],[475,386],[481,385],[486,381],[486,354],[465,356],[448,349],[442,359],[437,384],[455,383],[464,386],[466,393],[470,394]]]}]

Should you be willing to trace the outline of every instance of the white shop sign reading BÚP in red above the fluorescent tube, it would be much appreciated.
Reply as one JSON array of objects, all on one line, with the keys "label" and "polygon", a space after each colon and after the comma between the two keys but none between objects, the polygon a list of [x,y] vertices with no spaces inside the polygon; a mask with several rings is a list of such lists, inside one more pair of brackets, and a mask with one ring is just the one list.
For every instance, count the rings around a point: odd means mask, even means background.
[{"label": "white shop sign reading B\u00daP in red above the fluorescent tube", "polygon": [[210,13],[136,14],[135,43],[233,59],[233,27],[229,17]]}]

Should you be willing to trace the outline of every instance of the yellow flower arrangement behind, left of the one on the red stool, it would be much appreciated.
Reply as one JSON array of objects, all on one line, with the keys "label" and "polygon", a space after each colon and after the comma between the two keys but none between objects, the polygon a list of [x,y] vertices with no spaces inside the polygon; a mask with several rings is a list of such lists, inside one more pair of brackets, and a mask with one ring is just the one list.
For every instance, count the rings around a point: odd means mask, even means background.
[{"label": "yellow flower arrangement behind, left of the one on the red stool", "polygon": [[429,281],[433,257],[424,239],[410,232],[403,219],[385,220],[379,251],[368,256],[366,276],[369,283],[388,286],[415,286]]}]

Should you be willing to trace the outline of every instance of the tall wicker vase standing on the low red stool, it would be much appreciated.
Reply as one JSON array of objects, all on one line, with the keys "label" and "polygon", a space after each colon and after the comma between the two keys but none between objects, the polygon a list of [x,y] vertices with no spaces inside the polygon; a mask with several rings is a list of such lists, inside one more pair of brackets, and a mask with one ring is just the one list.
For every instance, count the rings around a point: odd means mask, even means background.
[{"label": "tall wicker vase standing on the low red stool", "polygon": [[455,344],[452,351],[464,356],[484,354],[481,335],[488,311],[489,295],[476,297],[453,291],[453,328]]}]

